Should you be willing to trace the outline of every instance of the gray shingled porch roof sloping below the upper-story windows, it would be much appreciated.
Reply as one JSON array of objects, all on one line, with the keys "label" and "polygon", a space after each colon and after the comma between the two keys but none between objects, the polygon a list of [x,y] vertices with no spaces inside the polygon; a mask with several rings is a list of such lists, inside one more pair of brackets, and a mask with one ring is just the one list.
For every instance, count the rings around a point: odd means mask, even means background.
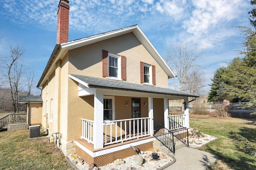
[{"label": "gray shingled porch roof sloping below the upper-story windows", "polygon": [[70,74],[70,75],[88,84],[89,88],[103,88],[103,89],[124,90],[124,91],[142,92],[142,93],[198,97],[193,94],[179,92],[176,90],[172,90],[170,88],[160,88],[160,87],[148,86],[144,84],[134,84],[134,83],[128,83],[128,82],[122,82],[122,81],[116,81],[116,80],[107,80],[102,78],[79,76],[74,74]]}]

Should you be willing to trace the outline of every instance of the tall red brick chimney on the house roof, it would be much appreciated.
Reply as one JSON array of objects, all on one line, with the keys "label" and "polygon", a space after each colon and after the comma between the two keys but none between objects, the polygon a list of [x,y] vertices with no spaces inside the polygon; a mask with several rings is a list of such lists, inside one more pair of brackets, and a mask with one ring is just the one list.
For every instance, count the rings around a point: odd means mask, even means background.
[{"label": "tall red brick chimney on the house roof", "polygon": [[69,1],[60,0],[57,12],[57,44],[68,42]]}]

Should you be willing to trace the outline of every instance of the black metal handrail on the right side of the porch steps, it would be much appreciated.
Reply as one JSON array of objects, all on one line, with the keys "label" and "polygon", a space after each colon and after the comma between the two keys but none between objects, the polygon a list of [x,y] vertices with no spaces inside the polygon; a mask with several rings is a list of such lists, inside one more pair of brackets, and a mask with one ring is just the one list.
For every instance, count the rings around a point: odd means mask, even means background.
[{"label": "black metal handrail on the right side of the porch steps", "polygon": [[174,137],[176,137],[179,141],[181,141],[187,147],[189,147],[188,129],[186,127],[183,127],[182,125],[180,125],[176,121],[170,119],[170,117],[169,117],[169,122],[170,122],[170,125],[176,125],[177,127],[179,127],[176,130],[172,130],[172,133],[173,133]]}]

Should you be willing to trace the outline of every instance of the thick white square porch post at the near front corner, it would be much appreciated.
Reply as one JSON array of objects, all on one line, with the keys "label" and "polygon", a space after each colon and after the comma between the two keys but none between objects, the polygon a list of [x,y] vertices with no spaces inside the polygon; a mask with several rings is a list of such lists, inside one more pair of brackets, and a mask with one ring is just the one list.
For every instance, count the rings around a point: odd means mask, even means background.
[{"label": "thick white square porch post at the near front corner", "polygon": [[94,93],[94,149],[103,148],[103,94]]}]

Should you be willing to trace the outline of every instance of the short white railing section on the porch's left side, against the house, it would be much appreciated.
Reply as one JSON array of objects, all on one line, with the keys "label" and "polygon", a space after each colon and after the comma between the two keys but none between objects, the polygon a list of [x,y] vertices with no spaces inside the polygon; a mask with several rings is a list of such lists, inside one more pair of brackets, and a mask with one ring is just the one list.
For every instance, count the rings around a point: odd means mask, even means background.
[{"label": "short white railing section on the porch's left side, against the house", "polygon": [[88,119],[82,119],[82,139],[88,141],[88,143],[94,144],[93,141],[93,127],[94,121]]}]

